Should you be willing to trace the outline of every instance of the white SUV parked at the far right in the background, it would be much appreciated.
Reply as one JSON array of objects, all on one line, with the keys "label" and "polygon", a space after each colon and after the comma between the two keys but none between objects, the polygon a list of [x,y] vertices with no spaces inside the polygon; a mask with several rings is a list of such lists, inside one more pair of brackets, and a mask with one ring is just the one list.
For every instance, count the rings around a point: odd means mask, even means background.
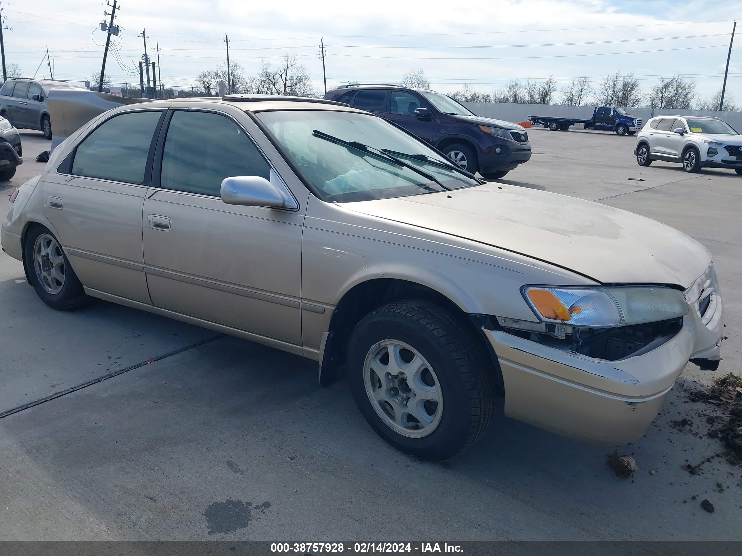
[{"label": "white SUV parked at the far right in the background", "polygon": [[712,116],[652,118],[637,135],[634,154],[640,166],[664,160],[680,162],[686,172],[734,168],[742,174],[742,136]]}]

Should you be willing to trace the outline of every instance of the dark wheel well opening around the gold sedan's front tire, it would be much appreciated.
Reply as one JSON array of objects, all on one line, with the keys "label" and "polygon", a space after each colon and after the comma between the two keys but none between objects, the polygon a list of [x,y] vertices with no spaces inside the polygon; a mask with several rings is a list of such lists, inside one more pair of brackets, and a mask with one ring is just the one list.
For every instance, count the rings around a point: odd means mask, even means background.
[{"label": "dark wheel well opening around the gold sedan's front tire", "polygon": [[482,333],[482,325],[491,325],[491,318],[485,315],[467,313],[460,299],[452,299],[450,292],[443,293],[430,285],[424,285],[410,279],[382,277],[366,279],[352,285],[341,297],[329,322],[320,357],[320,384],[327,386],[344,377],[345,357],[350,335],[355,325],[373,311],[387,303],[402,300],[432,302],[444,308],[462,325],[462,328],[473,334],[476,342],[484,342],[493,360],[496,370],[498,393],[502,391],[502,376],[492,345]]}]

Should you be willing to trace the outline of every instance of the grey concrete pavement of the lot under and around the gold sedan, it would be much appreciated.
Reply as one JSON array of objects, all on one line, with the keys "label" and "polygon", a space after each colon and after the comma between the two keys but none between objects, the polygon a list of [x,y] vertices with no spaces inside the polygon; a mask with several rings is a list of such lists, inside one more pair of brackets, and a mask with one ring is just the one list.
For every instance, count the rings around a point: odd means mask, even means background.
[{"label": "grey concrete pavement of the lot under and around the gold sedan", "polygon": [[[531,136],[541,154],[502,181],[603,199],[712,250],[729,340],[719,371],[688,365],[683,377],[738,371],[742,177],[640,168],[634,139],[609,133]],[[16,182],[48,145],[23,139]],[[17,280],[22,267],[0,254],[0,413],[131,370],[0,418],[0,539],[742,539],[742,470],[680,469],[720,451],[671,426],[708,411],[680,388],[620,449],[640,467],[634,483],[615,477],[605,447],[505,419],[460,457],[421,463],[370,430],[345,381],[319,388],[309,360],[104,302],[59,313]]]}]

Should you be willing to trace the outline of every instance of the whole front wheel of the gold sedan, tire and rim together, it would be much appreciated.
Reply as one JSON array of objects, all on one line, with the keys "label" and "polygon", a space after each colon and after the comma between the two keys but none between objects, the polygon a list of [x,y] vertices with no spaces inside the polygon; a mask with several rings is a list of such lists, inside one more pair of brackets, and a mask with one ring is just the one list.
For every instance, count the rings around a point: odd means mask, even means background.
[{"label": "whole front wheel of the gold sedan, tire and rim together", "polygon": [[447,460],[470,446],[494,412],[494,368],[464,322],[438,305],[392,302],[368,314],[349,341],[355,403],[395,448]]}]

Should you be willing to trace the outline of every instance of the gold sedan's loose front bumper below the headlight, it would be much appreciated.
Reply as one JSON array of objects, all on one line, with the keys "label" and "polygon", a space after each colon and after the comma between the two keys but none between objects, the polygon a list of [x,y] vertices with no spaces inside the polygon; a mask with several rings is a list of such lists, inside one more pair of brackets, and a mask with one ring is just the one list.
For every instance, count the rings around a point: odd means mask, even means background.
[{"label": "gold sedan's loose front bumper below the headlight", "polygon": [[[687,294],[686,294],[687,295]],[[689,360],[718,360],[723,308],[689,304],[683,327],[643,354],[608,361],[484,329],[502,370],[505,414],[577,440],[625,444],[640,438]],[[703,322],[706,320],[706,322]]]}]

